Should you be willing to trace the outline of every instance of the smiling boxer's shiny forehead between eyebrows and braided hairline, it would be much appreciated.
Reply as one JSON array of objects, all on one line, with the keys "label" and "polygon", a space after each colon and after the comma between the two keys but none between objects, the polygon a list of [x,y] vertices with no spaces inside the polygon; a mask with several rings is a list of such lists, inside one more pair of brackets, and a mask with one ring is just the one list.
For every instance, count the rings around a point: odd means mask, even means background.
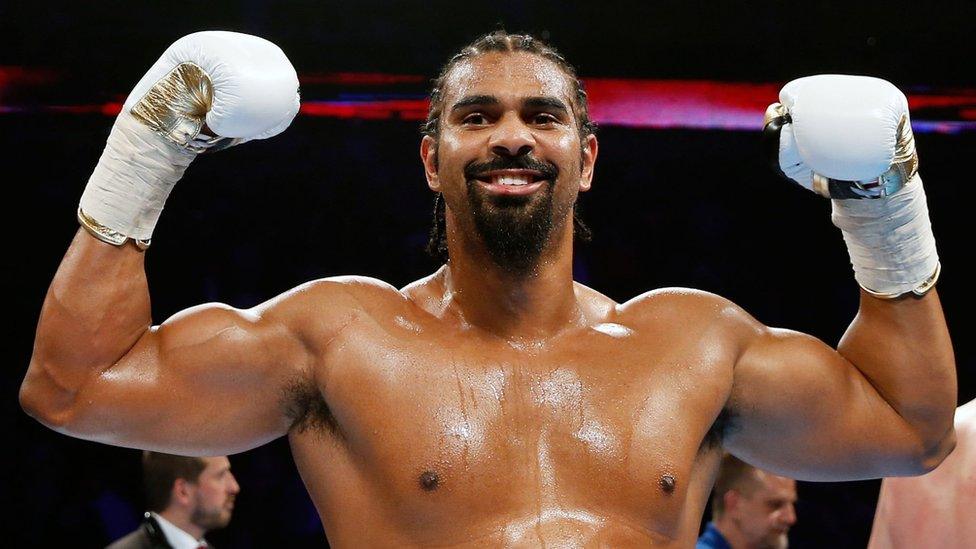
[{"label": "smiling boxer's shiny forehead between eyebrows and braided hairline", "polygon": [[572,84],[556,63],[526,52],[489,52],[458,63],[444,82],[448,105],[471,95],[499,99],[558,97],[574,104]]}]

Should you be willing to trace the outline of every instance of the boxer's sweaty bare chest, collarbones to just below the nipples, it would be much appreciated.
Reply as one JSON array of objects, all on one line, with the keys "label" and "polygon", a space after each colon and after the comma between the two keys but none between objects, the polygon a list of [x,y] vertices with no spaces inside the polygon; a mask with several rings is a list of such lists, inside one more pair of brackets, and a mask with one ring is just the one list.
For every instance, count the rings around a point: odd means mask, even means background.
[{"label": "boxer's sweaty bare chest, collarbones to just below the nipples", "polygon": [[420,514],[679,513],[724,402],[707,342],[618,325],[539,346],[364,332],[329,360],[323,393],[347,451]]}]

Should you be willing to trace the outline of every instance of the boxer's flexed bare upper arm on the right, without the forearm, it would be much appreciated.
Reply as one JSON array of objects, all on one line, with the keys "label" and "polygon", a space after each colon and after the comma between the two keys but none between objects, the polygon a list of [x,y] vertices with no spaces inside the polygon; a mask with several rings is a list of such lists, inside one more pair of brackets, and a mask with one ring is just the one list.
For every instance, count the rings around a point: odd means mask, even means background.
[{"label": "boxer's flexed bare upper arm on the right, without the forearm", "polygon": [[801,480],[914,472],[923,451],[910,425],[860,370],[822,341],[765,328],[735,366],[724,445]]}]

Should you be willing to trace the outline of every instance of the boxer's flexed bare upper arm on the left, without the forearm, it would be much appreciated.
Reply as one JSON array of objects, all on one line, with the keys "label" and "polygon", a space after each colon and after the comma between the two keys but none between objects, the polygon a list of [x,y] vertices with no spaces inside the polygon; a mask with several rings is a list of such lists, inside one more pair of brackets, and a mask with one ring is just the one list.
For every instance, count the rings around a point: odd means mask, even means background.
[{"label": "boxer's flexed bare upper arm on the left, without the forearm", "polygon": [[202,305],[152,327],[91,376],[55,428],[170,453],[240,452],[287,431],[282,393],[311,360],[273,312]]}]

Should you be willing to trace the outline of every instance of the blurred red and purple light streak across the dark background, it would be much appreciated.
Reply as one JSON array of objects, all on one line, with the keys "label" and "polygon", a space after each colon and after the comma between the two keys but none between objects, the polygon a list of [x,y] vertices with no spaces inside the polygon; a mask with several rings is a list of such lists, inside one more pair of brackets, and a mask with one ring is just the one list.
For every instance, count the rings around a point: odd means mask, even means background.
[{"label": "blurred red and purple light streak across the dark background", "polygon": [[[16,89],[30,96],[32,88],[56,85],[49,69],[0,66],[0,114],[53,112],[66,115],[115,116],[121,103],[77,105],[3,104],[3,92]],[[417,99],[426,78],[410,74],[312,73],[301,75],[303,86],[324,85],[326,94],[343,87],[371,86],[390,99],[322,99],[307,94],[300,114],[309,117],[361,120],[421,121],[428,102]],[[634,128],[690,128],[754,131],[762,125],[766,106],[775,101],[782,83],[742,83],[707,80],[584,79],[590,117],[603,126]],[[406,86],[410,91],[402,91]],[[395,87],[396,89],[390,89]],[[403,96],[403,97],[397,97]],[[909,105],[917,131],[959,132],[976,129],[976,90],[952,89],[910,93]],[[926,112],[935,111],[935,112]]]}]

